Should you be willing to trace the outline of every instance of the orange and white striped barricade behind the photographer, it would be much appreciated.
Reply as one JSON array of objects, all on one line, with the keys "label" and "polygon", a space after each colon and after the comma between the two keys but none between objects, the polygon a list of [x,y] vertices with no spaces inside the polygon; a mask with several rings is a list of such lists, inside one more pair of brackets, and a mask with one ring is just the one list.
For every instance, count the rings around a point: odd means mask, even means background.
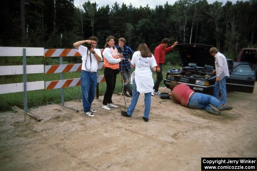
[{"label": "orange and white striped barricade behind the photographer", "polygon": [[[60,65],[46,65],[45,74],[60,73],[60,80],[46,82],[46,90],[60,88],[61,89],[61,104],[64,106],[64,87],[73,87],[80,85],[78,78],[63,80],[63,72],[81,71],[82,64],[62,64],[63,56],[81,56],[76,49],[44,49],[44,57],[60,57]],[[103,69],[103,62],[98,63],[98,69]],[[98,72],[97,72],[98,75]],[[99,76],[100,77],[100,76]],[[76,82],[78,81],[78,82]],[[102,81],[100,81],[102,82]],[[75,84],[76,83],[76,84]],[[99,98],[99,82],[97,82],[96,98]],[[54,85],[56,84],[56,85]],[[48,87],[48,88],[47,88]]]}]

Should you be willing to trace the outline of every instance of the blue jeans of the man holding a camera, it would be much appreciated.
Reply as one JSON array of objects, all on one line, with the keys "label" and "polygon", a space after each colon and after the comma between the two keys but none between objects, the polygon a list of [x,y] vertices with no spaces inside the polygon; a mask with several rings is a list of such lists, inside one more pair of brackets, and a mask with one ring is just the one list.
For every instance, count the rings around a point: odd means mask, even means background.
[{"label": "blue jeans of the man holding a camera", "polygon": [[82,90],[82,103],[84,112],[89,112],[91,104],[95,98],[96,85],[97,85],[97,73],[91,73],[87,71],[81,71],[80,81]]}]

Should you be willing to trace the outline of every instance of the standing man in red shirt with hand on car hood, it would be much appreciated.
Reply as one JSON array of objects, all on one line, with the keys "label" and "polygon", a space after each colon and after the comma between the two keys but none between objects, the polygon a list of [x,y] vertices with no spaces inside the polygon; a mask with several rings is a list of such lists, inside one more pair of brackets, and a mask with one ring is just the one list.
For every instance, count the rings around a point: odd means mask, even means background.
[{"label": "standing man in red shirt with hand on car hood", "polygon": [[164,64],[165,53],[170,52],[171,50],[173,50],[174,46],[177,45],[177,42],[175,42],[171,47],[167,48],[169,43],[170,43],[170,40],[165,38],[161,41],[161,44],[159,46],[157,46],[154,50],[155,61],[157,63],[157,69],[156,69],[156,81],[155,81],[155,85],[153,87],[153,92],[151,93],[152,96],[154,96],[155,94],[157,94],[157,95],[161,94],[158,91],[158,89],[159,89],[159,85],[163,79],[162,65]]}]

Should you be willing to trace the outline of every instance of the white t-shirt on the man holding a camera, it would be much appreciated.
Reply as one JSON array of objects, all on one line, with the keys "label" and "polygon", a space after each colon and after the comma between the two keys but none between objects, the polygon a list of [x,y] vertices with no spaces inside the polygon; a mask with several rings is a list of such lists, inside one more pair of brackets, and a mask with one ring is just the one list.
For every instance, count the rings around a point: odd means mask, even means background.
[{"label": "white t-shirt on the man holding a camera", "polygon": [[[90,51],[87,52],[87,47],[80,45],[79,49],[77,50],[82,55],[82,70],[96,72],[98,65],[96,57]],[[99,49],[94,49],[97,55],[99,55],[102,59],[101,51]],[[90,55],[91,55],[91,64],[90,64]],[[86,65],[85,65],[86,64]]]}]

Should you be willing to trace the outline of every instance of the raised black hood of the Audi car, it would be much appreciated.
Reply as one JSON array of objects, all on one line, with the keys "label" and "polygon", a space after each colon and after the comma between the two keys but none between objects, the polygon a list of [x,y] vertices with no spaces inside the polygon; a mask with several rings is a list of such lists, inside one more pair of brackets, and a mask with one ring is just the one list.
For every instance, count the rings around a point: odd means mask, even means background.
[{"label": "raised black hood of the Audi car", "polygon": [[178,44],[178,49],[181,61],[185,66],[199,66],[215,68],[215,58],[209,53],[210,45],[200,44]]}]

